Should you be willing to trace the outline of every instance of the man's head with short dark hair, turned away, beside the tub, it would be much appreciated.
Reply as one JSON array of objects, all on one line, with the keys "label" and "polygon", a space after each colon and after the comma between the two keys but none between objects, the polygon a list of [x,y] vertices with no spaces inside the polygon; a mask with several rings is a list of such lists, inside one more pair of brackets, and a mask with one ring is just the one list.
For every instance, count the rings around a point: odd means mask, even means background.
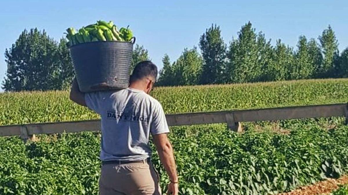
[{"label": "man's head with short dark hair, turned away, beside the tub", "polygon": [[151,61],[141,61],[135,66],[132,75],[130,75],[129,87],[143,90],[150,93],[155,85],[157,78],[157,66]]}]

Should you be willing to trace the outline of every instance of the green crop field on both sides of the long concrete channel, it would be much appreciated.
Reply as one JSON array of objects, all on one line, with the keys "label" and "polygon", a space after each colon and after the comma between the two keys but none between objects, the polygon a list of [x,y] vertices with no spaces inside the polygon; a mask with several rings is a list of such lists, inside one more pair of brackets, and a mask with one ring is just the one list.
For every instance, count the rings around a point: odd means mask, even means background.
[{"label": "green crop field on both sides of the long concrete channel", "polygon": [[[348,79],[156,88],[166,113],[348,102]],[[0,94],[0,125],[95,119],[68,92]],[[348,171],[344,118],[172,127],[181,194],[275,194]],[[0,194],[97,194],[100,133],[0,137]],[[153,145],[152,145],[153,147]],[[153,148],[154,149],[154,148]],[[153,163],[168,178],[157,154]]]}]

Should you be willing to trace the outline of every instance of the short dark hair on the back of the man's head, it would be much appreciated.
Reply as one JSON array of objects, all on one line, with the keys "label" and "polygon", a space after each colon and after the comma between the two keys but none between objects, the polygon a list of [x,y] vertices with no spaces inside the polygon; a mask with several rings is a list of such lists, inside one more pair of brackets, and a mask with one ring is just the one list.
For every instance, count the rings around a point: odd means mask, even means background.
[{"label": "short dark hair on the back of the man's head", "polygon": [[151,76],[157,78],[157,66],[152,63],[150,60],[145,60],[137,63],[133,70],[132,75],[130,75],[130,82],[135,80],[143,79],[144,77]]}]

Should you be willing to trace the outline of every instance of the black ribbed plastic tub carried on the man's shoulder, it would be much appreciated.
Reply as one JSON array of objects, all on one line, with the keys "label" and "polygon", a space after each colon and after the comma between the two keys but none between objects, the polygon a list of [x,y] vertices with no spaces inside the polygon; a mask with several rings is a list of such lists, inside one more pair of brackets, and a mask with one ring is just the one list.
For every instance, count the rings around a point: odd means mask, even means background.
[{"label": "black ribbed plastic tub carried on the man's shoulder", "polygon": [[81,92],[119,90],[129,85],[132,42],[100,41],[70,48]]}]

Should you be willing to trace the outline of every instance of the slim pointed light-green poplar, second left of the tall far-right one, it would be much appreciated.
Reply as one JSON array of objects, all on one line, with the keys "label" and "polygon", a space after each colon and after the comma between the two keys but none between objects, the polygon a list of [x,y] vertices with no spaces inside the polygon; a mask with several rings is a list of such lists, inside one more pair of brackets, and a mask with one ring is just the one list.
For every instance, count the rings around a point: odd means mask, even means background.
[{"label": "slim pointed light-green poplar, second left of the tall far-right one", "polygon": [[307,79],[313,74],[314,67],[308,52],[307,38],[300,36],[297,44],[298,51],[295,55],[295,63],[289,68],[290,79]]}]

